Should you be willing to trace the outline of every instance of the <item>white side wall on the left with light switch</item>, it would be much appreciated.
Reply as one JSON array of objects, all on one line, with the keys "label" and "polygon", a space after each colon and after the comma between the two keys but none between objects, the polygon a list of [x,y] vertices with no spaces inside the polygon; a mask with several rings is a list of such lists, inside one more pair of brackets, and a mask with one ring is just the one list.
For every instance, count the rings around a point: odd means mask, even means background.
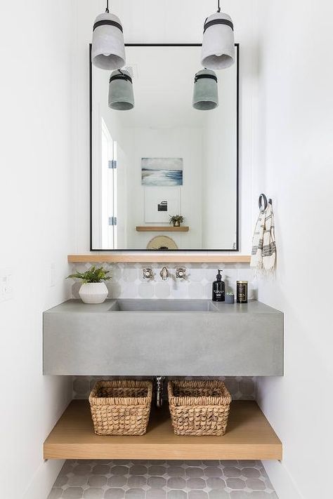
[{"label": "white side wall on the left with light switch", "polygon": [[[1,498],[45,499],[61,462],[42,443],[69,401],[70,380],[42,375],[42,312],[65,300],[71,216],[72,2],[1,2]],[[55,286],[48,268],[55,265]]]}]

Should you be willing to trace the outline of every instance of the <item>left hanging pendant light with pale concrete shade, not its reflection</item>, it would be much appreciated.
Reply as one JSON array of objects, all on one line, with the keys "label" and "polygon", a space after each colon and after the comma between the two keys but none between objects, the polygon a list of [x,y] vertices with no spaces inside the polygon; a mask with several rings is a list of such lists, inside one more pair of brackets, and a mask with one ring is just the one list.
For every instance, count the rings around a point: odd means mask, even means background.
[{"label": "left hanging pendant light with pale concrete shade, not its reflection", "polygon": [[110,14],[109,0],[105,13],[98,15],[93,24],[91,58],[100,69],[119,69],[126,62],[122,22],[117,15]]}]

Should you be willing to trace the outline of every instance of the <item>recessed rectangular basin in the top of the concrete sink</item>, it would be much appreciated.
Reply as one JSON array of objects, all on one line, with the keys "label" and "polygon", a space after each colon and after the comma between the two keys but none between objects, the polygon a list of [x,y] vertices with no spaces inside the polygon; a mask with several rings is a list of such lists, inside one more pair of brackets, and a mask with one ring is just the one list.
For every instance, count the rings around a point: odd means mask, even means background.
[{"label": "recessed rectangular basin in the top of the concrete sink", "polygon": [[110,312],[217,312],[210,300],[114,300]]}]

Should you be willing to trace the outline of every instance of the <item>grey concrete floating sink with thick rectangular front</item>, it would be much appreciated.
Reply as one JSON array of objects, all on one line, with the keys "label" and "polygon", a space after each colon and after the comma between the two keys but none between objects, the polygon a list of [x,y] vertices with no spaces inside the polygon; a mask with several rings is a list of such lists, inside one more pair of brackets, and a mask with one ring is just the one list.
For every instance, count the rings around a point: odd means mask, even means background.
[{"label": "grey concrete floating sink with thick rectangular front", "polygon": [[68,300],[44,312],[44,374],[282,375],[283,314],[257,301]]}]

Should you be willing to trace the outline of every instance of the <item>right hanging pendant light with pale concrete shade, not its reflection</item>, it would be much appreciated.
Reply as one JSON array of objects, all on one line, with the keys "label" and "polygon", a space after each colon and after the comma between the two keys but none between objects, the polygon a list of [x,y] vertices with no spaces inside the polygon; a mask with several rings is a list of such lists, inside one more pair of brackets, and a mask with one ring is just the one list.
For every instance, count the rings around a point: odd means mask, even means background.
[{"label": "right hanging pendant light with pale concrete shade, not its reflection", "polygon": [[221,12],[220,0],[217,13],[204,21],[201,62],[209,69],[224,69],[235,62],[233,20]]}]

